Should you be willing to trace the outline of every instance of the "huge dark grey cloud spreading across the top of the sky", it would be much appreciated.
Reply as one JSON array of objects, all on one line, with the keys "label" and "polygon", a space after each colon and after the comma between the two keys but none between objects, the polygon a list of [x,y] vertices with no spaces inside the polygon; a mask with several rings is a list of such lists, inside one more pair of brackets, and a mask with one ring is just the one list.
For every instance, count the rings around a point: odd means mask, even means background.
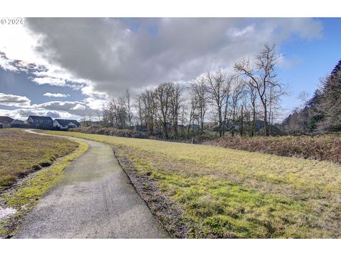
[{"label": "huge dark grey cloud spreading across the top of the sky", "polygon": [[190,80],[254,55],[264,43],[321,33],[309,18],[28,18],[26,25],[40,38],[40,55],[109,96]]}]

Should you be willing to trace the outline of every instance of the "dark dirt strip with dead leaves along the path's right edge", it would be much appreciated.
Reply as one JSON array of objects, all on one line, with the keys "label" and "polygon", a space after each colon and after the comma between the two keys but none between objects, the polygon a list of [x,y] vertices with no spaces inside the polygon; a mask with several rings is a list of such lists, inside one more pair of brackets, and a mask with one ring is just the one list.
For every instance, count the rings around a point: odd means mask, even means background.
[{"label": "dark dirt strip with dead leaves along the path's right edge", "polygon": [[148,208],[162,223],[168,233],[174,238],[188,238],[189,228],[185,225],[185,221],[183,221],[183,210],[181,210],[180,206],[170,197],[164,196],[161,193],[156,180],[148,174],[137,174],[129,159],[119,154],[117,149],[113,150],[119,164],[129,177],[132,185],[136,188],[137,193],[144,199]]}]

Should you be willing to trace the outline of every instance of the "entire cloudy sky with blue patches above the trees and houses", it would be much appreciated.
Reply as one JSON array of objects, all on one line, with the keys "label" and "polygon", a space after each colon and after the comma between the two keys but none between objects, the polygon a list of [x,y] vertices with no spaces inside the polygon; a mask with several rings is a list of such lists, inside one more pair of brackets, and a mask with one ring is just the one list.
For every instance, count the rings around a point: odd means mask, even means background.
[{"label": "entire cloudy sky with blue patches above the trees and houses", "polygon": [[79,119],[126,89],[232,73],[275,43],[283,118],[340,60],[340,27],[341,18],[25,18],[0,25],[0,115]]}]

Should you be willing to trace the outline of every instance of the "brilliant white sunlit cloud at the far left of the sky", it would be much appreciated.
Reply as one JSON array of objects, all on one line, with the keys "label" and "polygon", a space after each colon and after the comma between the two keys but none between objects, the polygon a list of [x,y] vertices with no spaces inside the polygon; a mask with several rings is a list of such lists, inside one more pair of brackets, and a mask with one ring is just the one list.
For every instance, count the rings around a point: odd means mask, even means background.
[{"label": "brilliant white sunlit cloud at the far left of the sky", "polygon": [[[0,26],[0,68],[12,72],[30,72],[38,85],[49,84],[80,89],[87,81],[76,78],[69,70],[50,62],[48,56],[37,54],[43,33],[33,33],[24,25]],[[6,55],[5,55],[6,54]]]}]

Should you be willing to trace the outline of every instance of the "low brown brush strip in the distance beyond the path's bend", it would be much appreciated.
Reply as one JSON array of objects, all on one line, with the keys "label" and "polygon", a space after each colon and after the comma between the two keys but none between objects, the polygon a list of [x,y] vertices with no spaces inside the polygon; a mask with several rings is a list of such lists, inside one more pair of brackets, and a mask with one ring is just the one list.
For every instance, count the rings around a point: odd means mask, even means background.
[{"label": "low brown brush strip in the distance beyond the path's bend", "polygon": [[102,127],[100,125],[92,125],[90,127],[79,127],[79,128],[71,128],[70,132],[82,132],[87,134],[102,134],[108,136],[117,136],[117,137],[127,137],[127,138],[139,138],[139,139],[148,139],[148,134],[146,132],[139,132],[131,129],[117,129],[112,127]]}]

